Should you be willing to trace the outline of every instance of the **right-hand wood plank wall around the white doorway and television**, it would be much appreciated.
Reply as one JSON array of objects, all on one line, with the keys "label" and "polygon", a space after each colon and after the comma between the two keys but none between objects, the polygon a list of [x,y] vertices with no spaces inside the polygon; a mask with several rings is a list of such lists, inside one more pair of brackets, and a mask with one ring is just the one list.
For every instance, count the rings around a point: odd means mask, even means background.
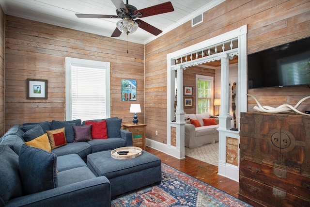
[{"label": "right-hand wood plank wall around the white doorway and television", "polygon": [[[310,36],[310,0],[226,0],[203,14],[203,23],[188,21],[145,45],[146,137],[167,143],[166,55],[219,34],[248,25],[248,54]],[[291,87],[248,90],[262,104],[296,103],[310,89]],[[253,100],[248,98],[248,110]],[[310,102],[304,103],[304,109]],[[158,130],[158,135],[155,135]]]}]

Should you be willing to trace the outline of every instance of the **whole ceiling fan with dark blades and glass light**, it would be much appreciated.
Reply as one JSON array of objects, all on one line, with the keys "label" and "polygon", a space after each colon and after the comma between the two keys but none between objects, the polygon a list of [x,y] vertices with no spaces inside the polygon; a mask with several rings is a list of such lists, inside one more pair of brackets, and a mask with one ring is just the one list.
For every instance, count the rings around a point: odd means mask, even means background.
[{"label": "whole ceiling fan with dark blades and glass light", "polygon": [[122,32],[126,34],[136,32],[138,27],[154,35],[158,35],[162,32],[161,30],[136,18],[159,15],[174,11],[170,1],[139,10],[135,6],[128,4],[128,0],[126,0],[126,4],[124,4],[123,0],[111,1],[116,7],[117,15],[76,14],[76,16],[79,18],[122,18],[121,21],[117,22],[117,27],[111,35],[111,37],[119,37]]}]

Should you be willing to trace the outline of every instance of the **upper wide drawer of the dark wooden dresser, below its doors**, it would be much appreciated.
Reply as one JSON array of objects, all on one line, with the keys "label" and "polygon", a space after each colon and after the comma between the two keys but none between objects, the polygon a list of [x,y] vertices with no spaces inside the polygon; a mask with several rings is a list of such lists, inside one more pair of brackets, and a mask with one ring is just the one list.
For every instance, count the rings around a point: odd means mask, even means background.
[{"label": "upper wide drawer of the dark wooden dresser, below its doors", "polygon": [[285,189],[287,193],[297,197],[310,199],[309,177],[247,159],[240,160],[240,175],[268,186]]}]

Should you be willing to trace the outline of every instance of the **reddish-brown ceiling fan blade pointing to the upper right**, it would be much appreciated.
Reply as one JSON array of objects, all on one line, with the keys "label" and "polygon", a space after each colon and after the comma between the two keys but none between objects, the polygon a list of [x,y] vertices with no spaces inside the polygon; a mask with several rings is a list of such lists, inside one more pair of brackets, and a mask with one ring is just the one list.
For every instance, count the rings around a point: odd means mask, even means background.
[{"label": "reddish-brown ceiling fan blade pointing to the upper right", "polygon": [[170,1],[168,1],[166,3],[161,3],[161,4],[157,4],[155,6],[136,10],[134,12],[134,15],[136,15],[140,12],[142,14],[142,16],[139,16],[139,18],[141,18],[141,17],[159,15],[159,14],[163,14],[163,13],[167,13],[167,12],[173,12],[173,11],[174,11],[174,8],[172,6],[172,3]]}]

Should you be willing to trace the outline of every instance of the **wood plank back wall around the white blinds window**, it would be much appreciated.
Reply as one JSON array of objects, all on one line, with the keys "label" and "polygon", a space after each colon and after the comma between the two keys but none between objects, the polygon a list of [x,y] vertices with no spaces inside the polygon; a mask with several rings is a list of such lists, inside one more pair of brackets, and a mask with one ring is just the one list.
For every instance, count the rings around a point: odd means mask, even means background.
[{"label": "wood plank back wall around the white blinds window", "polygon": [[[121,80],[137,80],[144,113],[144,45],[6,16],[5,129],[14,124],[65,119],[65,57],[110,62],[111,117],[132,122],[129,101],[121,101]],[[26,99],[26,79],[48,80],[47,100]],[[1,123],[0,123],[1,124]]]}]

